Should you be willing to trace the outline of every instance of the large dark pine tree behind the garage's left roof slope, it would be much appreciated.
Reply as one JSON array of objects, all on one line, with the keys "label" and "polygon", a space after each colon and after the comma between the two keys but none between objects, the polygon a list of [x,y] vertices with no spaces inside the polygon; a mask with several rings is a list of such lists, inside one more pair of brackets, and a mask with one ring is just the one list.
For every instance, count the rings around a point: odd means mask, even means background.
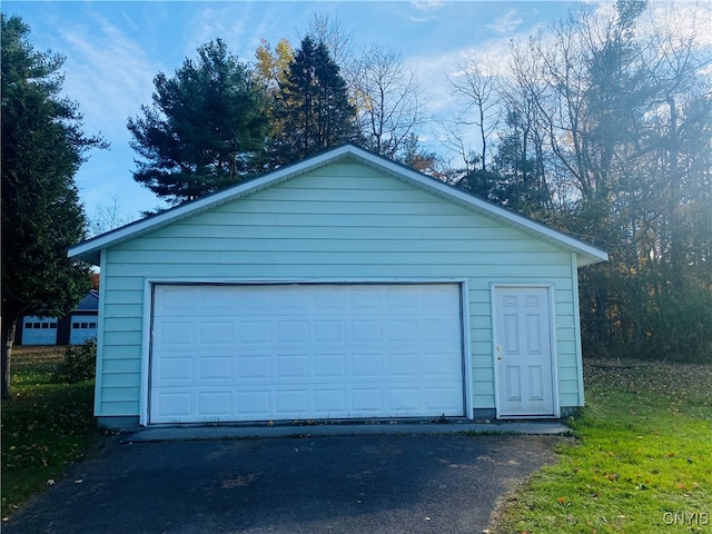
[{"label": "large dark pine tree behind the garage's left roof slope", "polygon": [[174,78],[159,72],[152,106],[129,118],[134,179],[180,204],[243,180],[260,169],[267,120],[247,66],[220,39],[198,48]]}]

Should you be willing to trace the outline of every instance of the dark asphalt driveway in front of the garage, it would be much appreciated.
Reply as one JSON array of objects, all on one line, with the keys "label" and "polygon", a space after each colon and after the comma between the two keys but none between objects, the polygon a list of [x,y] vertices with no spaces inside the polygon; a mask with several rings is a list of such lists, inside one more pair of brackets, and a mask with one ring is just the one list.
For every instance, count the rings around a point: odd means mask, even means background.
[{"label": "dark asphalt driveway in front of the garage", "polygon": [[479,533],[558,436],[108,441],[16,533]]}]

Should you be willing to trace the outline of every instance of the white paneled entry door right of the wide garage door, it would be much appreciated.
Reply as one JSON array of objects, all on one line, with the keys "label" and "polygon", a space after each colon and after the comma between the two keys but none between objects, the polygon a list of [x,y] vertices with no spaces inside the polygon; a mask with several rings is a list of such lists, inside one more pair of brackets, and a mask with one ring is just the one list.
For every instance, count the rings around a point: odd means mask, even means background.
[{"label": "white paneled entry door right of the wide garage door", "polygon": [[497,416],[554,416],[548,288],[495,287]]}]

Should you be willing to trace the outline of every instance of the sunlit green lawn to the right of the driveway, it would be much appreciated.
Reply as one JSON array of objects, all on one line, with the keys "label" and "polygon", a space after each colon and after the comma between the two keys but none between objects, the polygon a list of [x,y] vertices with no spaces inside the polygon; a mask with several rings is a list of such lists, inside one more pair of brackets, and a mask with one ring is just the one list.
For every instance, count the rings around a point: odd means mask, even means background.
[{"label": "sunlit green lawn to the right of the driveway", "polygon": [[712,365],[595,360],[584,377],[576,438],[491,532],[712,532]]}]

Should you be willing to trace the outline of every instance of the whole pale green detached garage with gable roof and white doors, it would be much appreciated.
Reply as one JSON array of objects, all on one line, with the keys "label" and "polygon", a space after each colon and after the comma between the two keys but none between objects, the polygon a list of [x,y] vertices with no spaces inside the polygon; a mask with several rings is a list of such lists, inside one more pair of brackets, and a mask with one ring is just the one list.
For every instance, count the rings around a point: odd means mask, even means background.
[{"label": "whole pale green detached garage with gable roof and white doors", "polygon": [[605,253],[354,146],[83,241],[108,427],[560,417]]}]

